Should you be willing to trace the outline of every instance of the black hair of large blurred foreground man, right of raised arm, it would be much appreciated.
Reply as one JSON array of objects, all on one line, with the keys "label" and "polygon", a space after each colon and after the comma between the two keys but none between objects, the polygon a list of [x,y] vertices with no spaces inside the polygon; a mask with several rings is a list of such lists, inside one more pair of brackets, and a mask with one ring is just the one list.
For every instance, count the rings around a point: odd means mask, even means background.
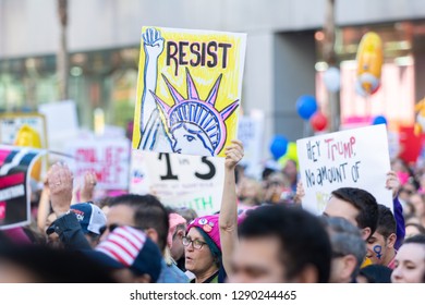
[{"label": "black hair of large blurred foreground man, right of raised arm", "polygon": [[277,237],[286,278],[293,279],[304,268],[313,266],[318,272],[317,281],[328,282],[330,241],[318,218],[309,212],[286,206],[260,206],[247,212],[239,228],[239,235],[241,239]]}]

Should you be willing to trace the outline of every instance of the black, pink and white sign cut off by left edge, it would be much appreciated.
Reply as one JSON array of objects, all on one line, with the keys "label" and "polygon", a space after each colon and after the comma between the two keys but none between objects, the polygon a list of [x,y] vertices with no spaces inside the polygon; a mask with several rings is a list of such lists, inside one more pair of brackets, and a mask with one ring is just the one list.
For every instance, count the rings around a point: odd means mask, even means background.
[{"label": "black, pink and white sign cut off by left edge", "polygon": [[29,172],[42,150],[0,145],[0,229],[29,224]]}]

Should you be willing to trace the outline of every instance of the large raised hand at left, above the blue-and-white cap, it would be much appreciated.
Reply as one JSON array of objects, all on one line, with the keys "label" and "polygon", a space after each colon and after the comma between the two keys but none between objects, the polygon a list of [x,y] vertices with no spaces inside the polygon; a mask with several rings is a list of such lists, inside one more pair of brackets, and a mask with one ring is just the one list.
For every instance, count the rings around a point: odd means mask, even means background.
[{"label": "large raised hand at left, above the blue-and-white cap", "polygon": [[64,215],[71,206],[73,176],[65,164],[56,163],[47,173],[51,208],[57,217]]}]

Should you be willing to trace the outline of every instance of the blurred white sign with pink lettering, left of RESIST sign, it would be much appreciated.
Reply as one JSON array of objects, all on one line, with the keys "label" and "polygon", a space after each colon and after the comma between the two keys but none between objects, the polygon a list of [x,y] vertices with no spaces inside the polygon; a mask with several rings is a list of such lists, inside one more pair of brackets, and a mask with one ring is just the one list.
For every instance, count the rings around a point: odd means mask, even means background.
[{"label": "blurred white sign with pink lettering, left of RESIST sign", "polygon": [[76,178],[88,172],[96,173],[99,190],[127,190],[130,166],[130,141],[126,138],[101,138],[72,141],[68,154]]}]

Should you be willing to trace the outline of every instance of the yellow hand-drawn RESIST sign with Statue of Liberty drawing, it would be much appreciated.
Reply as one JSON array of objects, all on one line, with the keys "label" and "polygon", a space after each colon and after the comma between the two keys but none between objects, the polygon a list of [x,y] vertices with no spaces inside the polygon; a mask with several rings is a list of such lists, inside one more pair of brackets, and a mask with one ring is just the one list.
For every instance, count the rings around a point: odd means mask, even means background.
[{"label": "yellow hand-drawn RESIST sign with Statue of Liberty drawing", "polygon": [[143,27],[133,148],[223,157],[236,136],[245,34]]}]

